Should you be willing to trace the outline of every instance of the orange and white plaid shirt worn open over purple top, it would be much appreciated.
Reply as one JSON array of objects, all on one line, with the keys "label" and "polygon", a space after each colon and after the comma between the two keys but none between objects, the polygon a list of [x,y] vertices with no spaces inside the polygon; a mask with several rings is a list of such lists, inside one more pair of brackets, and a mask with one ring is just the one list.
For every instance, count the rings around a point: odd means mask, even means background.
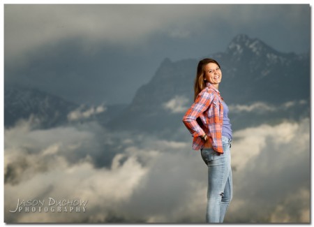
[{"label": "orange and white plaid shirt worn open over purple top", "polygon": [[[223,153],[221,140],[223,129],[223,98],[218,89],[207,82],[206,87],[197,95],[193,105],[183,117],[183,122],[192,134],[192,148],[202,149],[204,140],[200,138],[205,133],[209,136],[209,142],[216,152]],[[199,117],[199,119],[197,119]]]}]

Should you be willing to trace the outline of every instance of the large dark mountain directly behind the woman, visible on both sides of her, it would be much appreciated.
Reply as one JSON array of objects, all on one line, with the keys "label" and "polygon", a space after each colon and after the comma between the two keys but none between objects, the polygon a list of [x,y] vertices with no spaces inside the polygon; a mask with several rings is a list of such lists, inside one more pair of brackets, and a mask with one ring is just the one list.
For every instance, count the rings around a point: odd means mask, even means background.
[{"label": "large dark mountain directly behind the woman, visible on both sides of her", "polygon": [[[262,115],[233,113],[237,119],[235,129],[247,126],[248,122],[278,122],[284,118],[309,116],[309,53],[278,52],[257,38],[240,34],[233,38],[225,52],[209,57],[216,59],[222,68],[223,81],[219,89],[228,105],[266,103],[276,107],[276,111],[261,110]],[[171,135],[173,129],[182,126],[184,112],[193,103],[198,61],[165,59],[154,78],[138,89],[132,103],[108,126],[112,130]],[[289,102],[295,105],[288,105]],[[289,108],[278,108],[285,105]]]}]

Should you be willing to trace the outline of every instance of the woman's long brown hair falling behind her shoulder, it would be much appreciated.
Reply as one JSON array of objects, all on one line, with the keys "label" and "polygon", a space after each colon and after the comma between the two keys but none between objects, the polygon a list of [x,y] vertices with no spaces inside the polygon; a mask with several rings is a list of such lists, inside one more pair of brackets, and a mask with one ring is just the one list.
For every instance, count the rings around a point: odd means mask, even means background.
[{"label": "woman's long brown hair falling behind her shoulder", "polygon": [[204,66],[209,63],[217,64],[220,68],[220,65],[214,59],[206,58],[206,59],[200,60],[200,62],[197,65],[196,77],[194,81],[194,101],[197,95],[200,94],[200,91],[202,91],[202,89],[204,89],[204,87],[206,86],[205,80],[204,80]]}]

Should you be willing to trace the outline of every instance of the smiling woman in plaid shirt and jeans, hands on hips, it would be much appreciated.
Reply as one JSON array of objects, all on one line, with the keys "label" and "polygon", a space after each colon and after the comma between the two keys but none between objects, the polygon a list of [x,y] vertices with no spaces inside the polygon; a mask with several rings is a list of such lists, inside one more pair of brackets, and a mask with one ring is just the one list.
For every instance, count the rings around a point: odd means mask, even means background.
[{"label": "smiling woman in plaid shirt and jeans, hands on hips", "polygon": [[208,166],[207,214],[209,223],[222,223],[232,199],[230,147],[232,129],[228,108],[218,91],[222,73],[214,59],[197,66],[194,103],[183,122],[193,136],[193,149],[201,150]]}]

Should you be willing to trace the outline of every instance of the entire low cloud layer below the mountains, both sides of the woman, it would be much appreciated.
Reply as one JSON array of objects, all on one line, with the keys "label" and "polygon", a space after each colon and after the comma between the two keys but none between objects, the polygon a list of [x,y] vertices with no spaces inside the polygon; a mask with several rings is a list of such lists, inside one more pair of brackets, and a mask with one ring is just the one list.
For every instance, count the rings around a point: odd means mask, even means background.
[{"label": "entire low cloud layer below the mountains, both sides of the woman", "polygon": [[[204,221],[207,166],[188,131],[156,138],[96,122],[45,130],[20,122],[5,129],[4,142],[6,222]],[[308,222],[309,150],[309,119],[235,131],[234,198],[225,221]],[[18,198],[49,197],[88,200],[87,212],[8,212]]]}]

